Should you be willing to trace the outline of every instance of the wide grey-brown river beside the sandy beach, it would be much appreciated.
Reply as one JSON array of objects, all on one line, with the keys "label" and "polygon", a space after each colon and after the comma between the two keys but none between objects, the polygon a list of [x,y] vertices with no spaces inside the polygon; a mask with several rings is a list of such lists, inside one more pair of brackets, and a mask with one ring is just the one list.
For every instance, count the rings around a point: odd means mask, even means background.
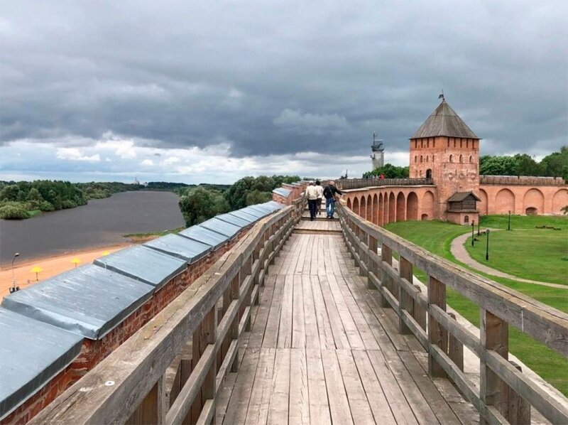
[{"label": "wide grey-brown river beside the sandy beach", "polygon": [[0,264],[126,242],[129,233],[184,225],[178,195],[140,190],[89,200],[87,205],[43,212],[28,220],[0,220]]}]

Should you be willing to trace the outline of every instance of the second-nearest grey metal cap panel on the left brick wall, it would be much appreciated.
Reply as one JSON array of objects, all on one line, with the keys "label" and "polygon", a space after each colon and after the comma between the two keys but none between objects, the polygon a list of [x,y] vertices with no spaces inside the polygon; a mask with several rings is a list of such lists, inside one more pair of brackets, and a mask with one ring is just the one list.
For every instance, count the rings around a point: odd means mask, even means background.
[{"label": "second-nearest grey metal cap panel on the left brick wall", "polygon": [[136,311],[153,290],[87,264],[5,296],[2,307],[96,340]]}]

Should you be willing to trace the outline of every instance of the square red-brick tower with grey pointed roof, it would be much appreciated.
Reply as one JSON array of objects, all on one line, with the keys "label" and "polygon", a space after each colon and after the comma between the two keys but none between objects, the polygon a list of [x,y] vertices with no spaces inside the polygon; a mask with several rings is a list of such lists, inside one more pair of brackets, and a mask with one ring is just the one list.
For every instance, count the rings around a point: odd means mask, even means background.
[{"label": "square red-brick tower with grey pointed roof", "polygon": [[[432,178],[437,185],[435,217],[456,221],[447,211],[448,199],[470,191],[479,195],[479,140],[443,96],[410,138],[410,178]],[[477,216],[471,212],[469,220]]]}]

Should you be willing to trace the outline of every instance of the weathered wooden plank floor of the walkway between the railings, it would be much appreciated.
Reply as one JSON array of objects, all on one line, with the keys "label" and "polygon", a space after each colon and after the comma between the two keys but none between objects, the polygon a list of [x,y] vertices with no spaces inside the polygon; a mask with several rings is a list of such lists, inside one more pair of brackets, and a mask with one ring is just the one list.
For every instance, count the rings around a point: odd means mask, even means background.
[{"label": "weathered wooden plank floor of the walkway between the railings", "polygon": [[339,235],[293,233],[253,308],[239,372],[219,392],[217,424],[478,422],[379,305]]}]

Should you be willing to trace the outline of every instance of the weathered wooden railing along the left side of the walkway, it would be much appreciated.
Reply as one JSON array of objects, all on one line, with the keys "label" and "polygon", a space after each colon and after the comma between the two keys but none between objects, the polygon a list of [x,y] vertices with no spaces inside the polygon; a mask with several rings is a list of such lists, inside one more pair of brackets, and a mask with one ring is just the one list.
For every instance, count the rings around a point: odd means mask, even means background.
[{"label": "weathered wooden railing along the left side of the walkway", "polygon": [[[304,200],[259,221],[233,249],[31,424],[211,423],[217,392],[236,372],[268,265],[300,220]],[[192,343],[192,370],[175,399],[165,372]]]}]

